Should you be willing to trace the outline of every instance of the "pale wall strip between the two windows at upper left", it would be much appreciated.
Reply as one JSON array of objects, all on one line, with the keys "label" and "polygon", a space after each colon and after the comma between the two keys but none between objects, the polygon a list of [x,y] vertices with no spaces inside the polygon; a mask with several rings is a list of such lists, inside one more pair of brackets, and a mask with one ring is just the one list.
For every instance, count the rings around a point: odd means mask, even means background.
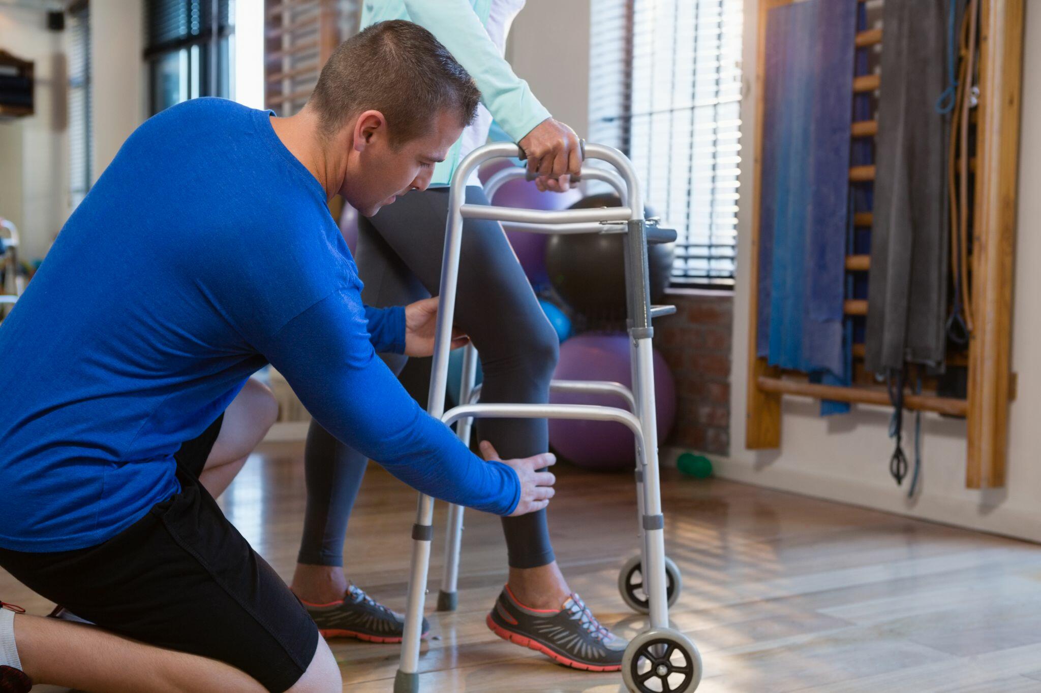
[{"label": "pale wall strip between the two windows at upper left", "polygon": [[98,180],[123,141],[145,121],[144,4],[130,0],[91,0],[94,180]]}]

